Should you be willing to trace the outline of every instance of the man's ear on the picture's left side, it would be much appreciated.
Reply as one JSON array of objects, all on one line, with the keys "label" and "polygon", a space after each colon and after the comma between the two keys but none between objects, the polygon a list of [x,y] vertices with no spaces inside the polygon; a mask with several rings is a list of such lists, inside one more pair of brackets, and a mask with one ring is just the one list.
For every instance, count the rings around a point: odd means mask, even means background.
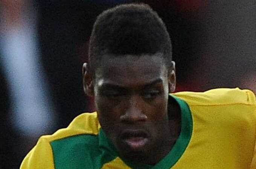
[{"label": "man's ear on the picture's left side", "polygon": [[83,64],[82,75],[83,75],[84,93],[87,94],[88,96],[94,96],[93,79],[89,73],[89,65],[87,63]]}]

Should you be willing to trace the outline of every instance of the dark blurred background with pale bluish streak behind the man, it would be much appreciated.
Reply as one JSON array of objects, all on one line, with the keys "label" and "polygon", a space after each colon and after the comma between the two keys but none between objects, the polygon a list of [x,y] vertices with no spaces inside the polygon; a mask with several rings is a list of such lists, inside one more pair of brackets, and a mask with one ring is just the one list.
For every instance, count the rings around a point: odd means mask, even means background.
[{"label": "dark blurred background with pale bluish streak behind the man", "polygon": [[131,2],[165,22],[177,91],[256,92],[255,0],[0,0],[0,169],[19,168],[38,137],[94,110],[81,73],[94,20]]}]

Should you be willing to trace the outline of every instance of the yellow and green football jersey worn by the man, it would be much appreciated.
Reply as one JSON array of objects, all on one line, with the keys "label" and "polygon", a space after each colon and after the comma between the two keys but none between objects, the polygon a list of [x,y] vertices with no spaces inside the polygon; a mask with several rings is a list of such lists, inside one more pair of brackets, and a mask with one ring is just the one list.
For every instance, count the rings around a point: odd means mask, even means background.
[{"label": "yellow and green football jersey worn by the man", "polygon": [[180,105],[181,133],[154,166],[121,159],[94,112],[40,137],[20,169],[256,169],[256,100],[251,91],[220,88],[169,97]]}]

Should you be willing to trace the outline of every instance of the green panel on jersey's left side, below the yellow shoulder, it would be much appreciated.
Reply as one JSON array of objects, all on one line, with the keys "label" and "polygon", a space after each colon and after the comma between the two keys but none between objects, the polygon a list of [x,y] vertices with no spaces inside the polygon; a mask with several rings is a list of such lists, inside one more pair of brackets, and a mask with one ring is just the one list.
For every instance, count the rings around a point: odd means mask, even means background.
[{"label": "green panel on jersey's left side, below the yellow shoulder", "polygon": [[55,140],[50,143],[55,169],[101,169],[116,156],[99,148],[95,135],[78,135]]}]

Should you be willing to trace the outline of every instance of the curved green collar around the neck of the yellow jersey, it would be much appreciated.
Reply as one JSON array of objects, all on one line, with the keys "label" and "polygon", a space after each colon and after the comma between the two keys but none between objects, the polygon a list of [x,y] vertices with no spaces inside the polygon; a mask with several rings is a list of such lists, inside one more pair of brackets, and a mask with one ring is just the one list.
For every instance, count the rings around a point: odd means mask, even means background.
[{"label": "curved green collar around the neck of the yellow jersey", "polygon": [[[133,169],[170,169],[172,166],[174,166],[175,163],[177,163],[181,155],[183,155],[184,151],[186,150],[187,145],[189,144],[189,141],[192,136],[192,128],[193,128],[190,109],[184,100],[181,100],[180,98],[173,96],[171,94],[169,95],[169,98],[170,97],[175,99],[178,105],[180,105],[180,110],[181,110],[180,136],[178,137],[174,146],[172,147],[171,151],[166,155],[166,157],[163,158],[154,166],[148,165],[148,164],[134,163],[122,158],[122,160],[131,168]],[[114,147],[113,143],[111,143],[111,141],[107,138],[107,136],[102,131],[102,129],[100,129],[99,131],[99,146],[100,148],[103,148],[106,151],[108,151],[109,154],[118,157],[116,148]]]}]

